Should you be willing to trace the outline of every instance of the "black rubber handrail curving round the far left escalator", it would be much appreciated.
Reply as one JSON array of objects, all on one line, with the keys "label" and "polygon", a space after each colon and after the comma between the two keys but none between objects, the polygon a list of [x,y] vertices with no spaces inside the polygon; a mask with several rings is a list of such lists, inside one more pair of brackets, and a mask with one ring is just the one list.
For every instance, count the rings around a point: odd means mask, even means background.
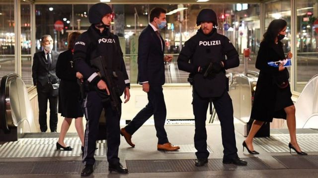
[{"label": "black rubber handrail curving round the far left escalator", "polygon": [[7,125],[7,118],[6,118],[6,88],[7,84],[10,84],[10,81],[15,78],[19,78],[18,74],[8,74],[3,76],[0,83],[0,128],[3,129],[5,133],[10,132],[10,129]]}]

